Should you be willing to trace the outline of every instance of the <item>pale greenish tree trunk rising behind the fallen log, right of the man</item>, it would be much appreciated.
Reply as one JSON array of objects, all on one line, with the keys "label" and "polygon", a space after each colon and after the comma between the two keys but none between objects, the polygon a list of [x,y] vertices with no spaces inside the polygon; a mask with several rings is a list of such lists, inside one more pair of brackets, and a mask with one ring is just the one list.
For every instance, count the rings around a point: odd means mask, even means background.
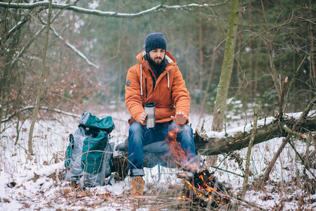
[{"label": "pale greenish tree trunk rising behind the fallen log, right of the man", "polygon": [[212,124],[212,130],[218,132],[222,131],[224,124],[228,87],[230,85],[230,77],[232,76],[232,65],[234,64],[235,58],[237,25],[239,20],[239,0],[232,0],[230,4],[230,20],[228,22],[228,33],[225,44],[224,60],[220,74],[220,81],[218,84],[218,91],[216,94],[216,103]]}]

